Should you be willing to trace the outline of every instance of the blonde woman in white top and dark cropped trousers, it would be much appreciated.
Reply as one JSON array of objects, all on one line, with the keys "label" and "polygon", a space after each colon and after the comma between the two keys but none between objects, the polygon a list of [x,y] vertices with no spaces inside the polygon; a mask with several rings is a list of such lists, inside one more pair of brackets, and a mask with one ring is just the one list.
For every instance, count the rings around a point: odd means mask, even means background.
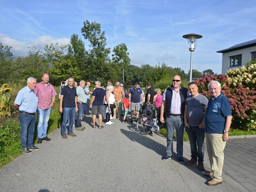
[{"label": "blonde woman in white top and dark cropped trousers", "polygon": [[[111,109],[111,106],[115,103],[116,98],[114,96],[114,94],[112,93],[114,91],[114,86],[113,85],[109,85],[108,87],[106,87],[106,100],[104,105],[106,106],[106,124],[111,125],[113,122],[110,121],[110,115],[114,114],[113,109]],[[109,113],[109,111],[111,110],[111,114]]]}]

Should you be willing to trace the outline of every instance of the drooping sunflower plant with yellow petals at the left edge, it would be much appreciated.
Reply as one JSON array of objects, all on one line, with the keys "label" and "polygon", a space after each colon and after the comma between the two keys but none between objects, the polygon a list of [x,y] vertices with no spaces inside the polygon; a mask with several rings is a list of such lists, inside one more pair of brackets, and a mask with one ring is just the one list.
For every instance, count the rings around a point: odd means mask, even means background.
[{"label": "drooping sunflower plant with yellow petals at the left edge", "polygon": [[10,93],[12,88],[8,84],[3,84],[0,87],[0,118],[10,117]]}]

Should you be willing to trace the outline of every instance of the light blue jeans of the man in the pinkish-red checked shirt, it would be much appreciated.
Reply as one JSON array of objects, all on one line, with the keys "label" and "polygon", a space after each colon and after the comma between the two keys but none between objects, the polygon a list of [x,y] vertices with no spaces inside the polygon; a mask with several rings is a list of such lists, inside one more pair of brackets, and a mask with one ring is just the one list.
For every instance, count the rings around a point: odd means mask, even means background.
[{"label": "light blue jeans of the man in the pinkish-red checked shirt", "polygon": [[50,118],[51,108],[40,109],[37,107],[37,136],[43,139],[46,137],[48,121]]}]

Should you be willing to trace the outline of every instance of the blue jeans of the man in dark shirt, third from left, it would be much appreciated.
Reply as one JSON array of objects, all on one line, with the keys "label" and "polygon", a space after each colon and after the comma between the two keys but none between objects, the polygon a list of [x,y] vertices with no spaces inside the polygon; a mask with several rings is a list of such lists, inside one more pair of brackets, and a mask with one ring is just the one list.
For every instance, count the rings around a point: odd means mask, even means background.
[{"label": "blue jeans of the man in dark shirt, third from left", "polygon": [[63,120],[61,125],[61,135],[66,134],[67,117],[69,117],[69,128],[67,134],[73,132],[73,125],[75,122],[75,107],[63,107]]}]

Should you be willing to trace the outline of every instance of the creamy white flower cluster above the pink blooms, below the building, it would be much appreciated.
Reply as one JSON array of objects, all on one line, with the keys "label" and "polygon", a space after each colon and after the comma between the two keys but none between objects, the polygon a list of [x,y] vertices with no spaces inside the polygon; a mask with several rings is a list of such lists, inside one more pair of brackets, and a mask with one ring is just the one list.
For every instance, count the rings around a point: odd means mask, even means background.
[{"label": "creamy white flower cluster above the pink blooms, below the building", "polygon": [[[230,85],[236,87],[238,83],[245,85],[248,89],[249,87],[256,87],[256,63],[251,64],[248,67],[242,66],[241,69],[235,68],[230,69],[226,73],[226,77],[228,77],[227,82]],[[246,84],[254,84],[254,85],[246,85]],[[249,86],[249,87],[248,87]]]}]

